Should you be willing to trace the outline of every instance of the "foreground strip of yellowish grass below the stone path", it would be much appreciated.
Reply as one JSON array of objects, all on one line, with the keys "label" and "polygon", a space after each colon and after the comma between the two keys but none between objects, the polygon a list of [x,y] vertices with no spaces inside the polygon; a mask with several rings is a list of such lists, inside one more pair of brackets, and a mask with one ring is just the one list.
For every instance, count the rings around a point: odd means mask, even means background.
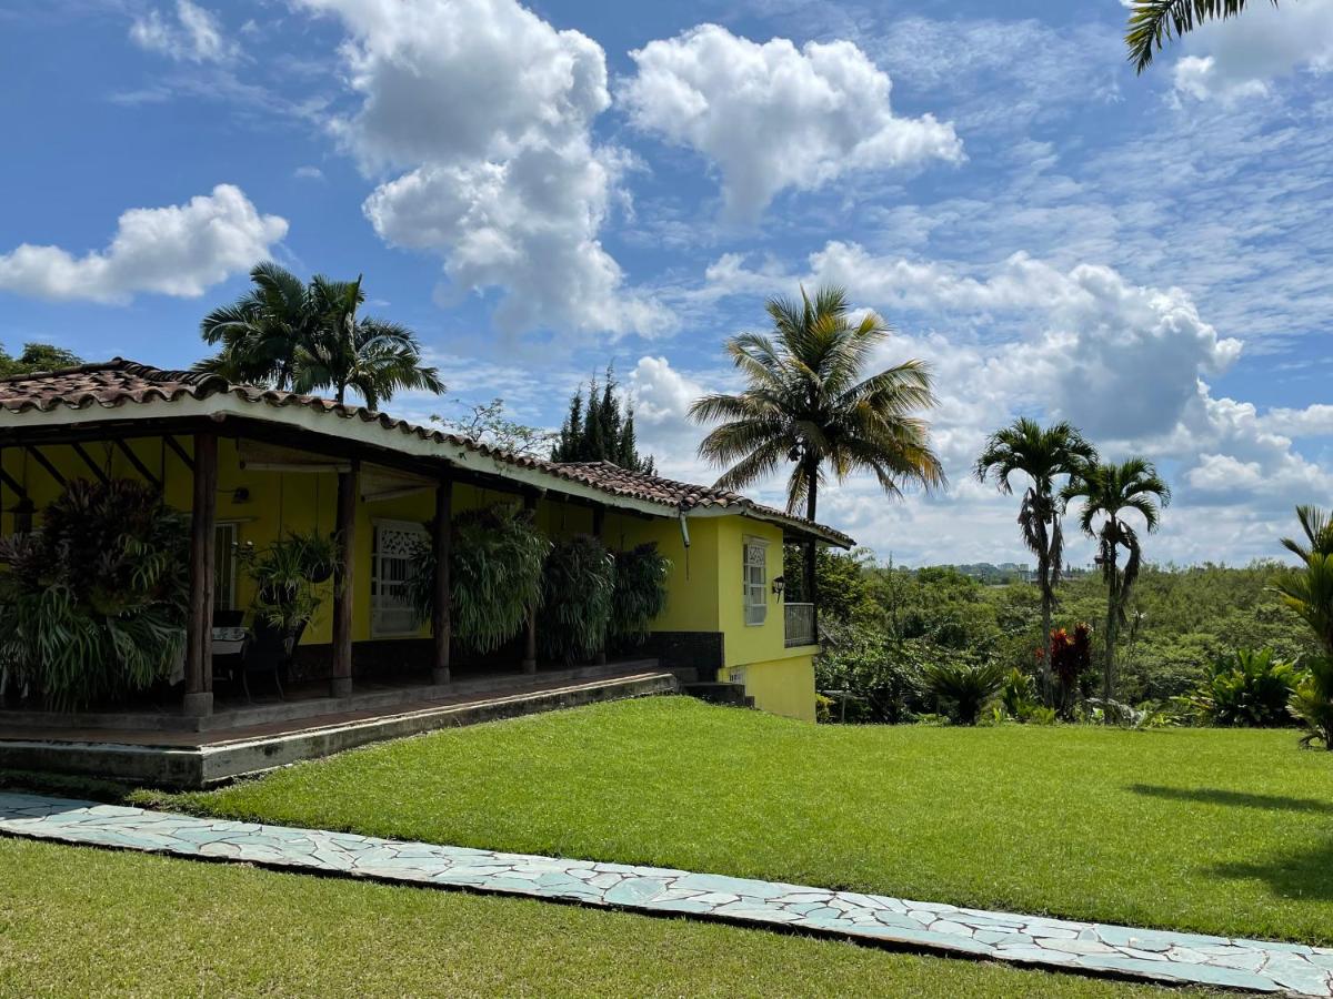
[{"label": "foreground strip of yellowish grass below the stone path", "polygon": [[0,839],[0,995],[1134,996],[682,919]]}]

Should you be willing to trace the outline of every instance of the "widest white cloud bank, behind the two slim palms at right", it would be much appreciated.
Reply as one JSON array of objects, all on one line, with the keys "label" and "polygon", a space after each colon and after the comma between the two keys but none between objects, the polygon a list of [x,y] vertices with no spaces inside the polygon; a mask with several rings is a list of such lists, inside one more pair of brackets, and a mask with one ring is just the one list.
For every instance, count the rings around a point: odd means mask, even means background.
[{"label": "widest white cloud bank, behind the two slim palms at right", "polygon": [[[822,518],[880,554],[896,550],[917,562],[936,559],[934,551],[949,559],[1014,557],[1012,503],[969,472],[985,436],[1020,413],[1073,421],[1109,458],[1142,453],[1161,465],[1177,502],[1168,534],[1153,542],[1154,558],[1280,554],[1276,537],[1290,507],[1333,492],[1333,474],[1293,441],[1333,433],[1333,406],[1261,413],[1216,396],[1206,377],[1228,370],[1241,345],[1220,336],[1180,289],[1029,254],[961,269],[829,242],[808,264],[789,273],[724,257],[701,294],[716,301],[836,281],[908,330],[890,337],[874,364],[917,357],[932,366],[940,398],[932,432],[949,494],[886,503],[873,484],[856,481],[828,490],[821,507]],[[765,489],[773,498],[778,484]],[[1081,543],[1073,542],[1074,558],[1084,554]]]}]

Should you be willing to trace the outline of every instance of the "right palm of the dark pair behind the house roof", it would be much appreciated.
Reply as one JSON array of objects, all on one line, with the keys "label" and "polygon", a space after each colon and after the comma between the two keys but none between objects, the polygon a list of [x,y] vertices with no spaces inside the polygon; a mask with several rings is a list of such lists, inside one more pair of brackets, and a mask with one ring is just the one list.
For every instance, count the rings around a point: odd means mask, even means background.
[{"label": "right palm of the dark pair behind the house roof", "polygon": [[371,409],[388,402],[399,389],[444,392],[435,368],[421,364],[421,348],[407,326],[360,316],[365,302],[361,278],[329,281],[316,276],[312,297],[324,317],[312,344],[297,358],[292,386],[311,393],[333,389],[339,402],[355,389]]}]

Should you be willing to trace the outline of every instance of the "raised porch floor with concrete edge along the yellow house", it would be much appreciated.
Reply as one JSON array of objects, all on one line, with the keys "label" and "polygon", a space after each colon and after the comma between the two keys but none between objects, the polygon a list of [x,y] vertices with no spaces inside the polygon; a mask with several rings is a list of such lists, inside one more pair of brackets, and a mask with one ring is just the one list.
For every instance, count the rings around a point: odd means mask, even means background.
[{"label": "raised porch floor with concrete edge along the yellow house", "polygon": [[659,669],[656,659],[643,659],[488,674],[447,686],[359,681],[345,698],[329,697],[327,683],[311,685],[289,691],[287,701],[275,695],[253,705],[224,702],[197,731],[160,725],[16,725],[0,713],[0,767],[204,787],[369,742],[678,689],[673,673]]}]

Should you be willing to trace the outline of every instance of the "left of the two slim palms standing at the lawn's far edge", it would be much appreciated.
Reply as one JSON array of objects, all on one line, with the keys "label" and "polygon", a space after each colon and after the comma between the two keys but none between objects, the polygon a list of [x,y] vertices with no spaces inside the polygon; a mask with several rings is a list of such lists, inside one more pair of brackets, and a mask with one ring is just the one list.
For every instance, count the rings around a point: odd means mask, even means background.
[{"label": "left of the two slim palms standing at the lawn's far edge", "polygon": [[1056,492],[1056,480],[1072,477],[1081,468],[1097,461],[1093,448],[1077,428],[1056,424],[1042,429],[1034,420],[1021,417],[990,434],[974,473],[978,482],[994,477],[996,488],[1009,496],[1009,477],[1028,477],[1028,492],[1018,506],[1018,529],[1028,550],[1037,557],[1037,583],[1041,587],[1041,683],[1049,703],[1050,689],[1050,615],[1056,603],[1056,586],[1064,563],[1064,531],[1060,517],[1064,503]]}]

